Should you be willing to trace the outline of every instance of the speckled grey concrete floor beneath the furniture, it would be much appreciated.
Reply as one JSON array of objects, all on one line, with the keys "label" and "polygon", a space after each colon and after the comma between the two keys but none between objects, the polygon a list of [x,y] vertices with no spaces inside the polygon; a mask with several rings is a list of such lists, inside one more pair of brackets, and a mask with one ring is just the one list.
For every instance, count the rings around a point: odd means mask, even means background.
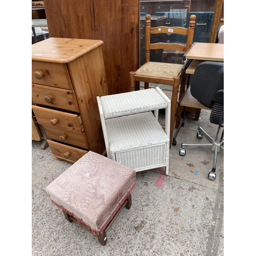
[{"label": "speckled grey concrete floor beneath the furniture", "polygon": [[215,181],[207,178],[214,156],[210,148],[187,147],[186,155],[179,156],[182,142],[200,140],[198,126],[215,137],[217,126],[209,122],[209,113],[202,110],[198,121],[187,113],[177,145],[170,149],[168,176],[161,168],[136,174],[132,207],[117,217],[105,246],[69,223],[45,193],[72,163],[57,160],[49,147],[41,150],[42,142],[32,141],[32,255],[224,255],[224,154],[218,154]]}]

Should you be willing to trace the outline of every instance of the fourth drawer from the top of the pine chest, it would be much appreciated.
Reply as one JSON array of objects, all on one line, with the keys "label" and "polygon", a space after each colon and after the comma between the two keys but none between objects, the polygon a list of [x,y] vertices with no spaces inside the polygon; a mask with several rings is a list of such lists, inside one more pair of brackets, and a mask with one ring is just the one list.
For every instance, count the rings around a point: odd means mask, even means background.
[{"label": "fourth drawer from the top of the pine chest", "polygon": [[46,133],[50,139],[58,140],[60,142],[65,142],[67,144],[89,148],[87,137],[85,133],[77,134],[68,132],[61,129],[56,129],[55,127],[44,126]]}]

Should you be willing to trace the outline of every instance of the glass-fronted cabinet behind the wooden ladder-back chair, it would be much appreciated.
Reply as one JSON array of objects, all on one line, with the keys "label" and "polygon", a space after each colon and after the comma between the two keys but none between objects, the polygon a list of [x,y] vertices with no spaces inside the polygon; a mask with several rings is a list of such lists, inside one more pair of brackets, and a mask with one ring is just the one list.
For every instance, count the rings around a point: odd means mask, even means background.
[{"label": "glass-fronted cabinet behind the wooden ladder-back chair", "polygon": [[[190,15],[195,14],[196,24],[193,42],[210,42],[217,1],[218,0],[140,0],[140,65],[143,65],[145,62],[144,36],[146,14],[151,15],[151,27],[167,26],[184,28],[188,28]],[[223,8],[221,16],[223,20]],[[159,36],[153,36],[151,39],[154,42],[158,42],[159,38]],[[179,42],[181,44],[186,42],[186,36],[175,34],[167,35],[161,38],[161,40],[162,39],[165,42]],[[151,53],[151,61],[181,63],[183,54],[183,52],[169,52],[163,49],[160,50],[160,52]]]}]

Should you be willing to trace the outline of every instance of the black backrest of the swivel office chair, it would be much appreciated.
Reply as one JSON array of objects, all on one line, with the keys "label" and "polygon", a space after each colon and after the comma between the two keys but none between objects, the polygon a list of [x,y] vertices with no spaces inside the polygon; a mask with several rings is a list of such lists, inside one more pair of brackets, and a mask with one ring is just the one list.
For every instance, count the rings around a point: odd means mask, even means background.
[{"label": "black backrest of the swivel office chair", "polygon": [[224,103],[224,62],[204,61],[193,75],[191,95],[212,109],[214,102]]}]

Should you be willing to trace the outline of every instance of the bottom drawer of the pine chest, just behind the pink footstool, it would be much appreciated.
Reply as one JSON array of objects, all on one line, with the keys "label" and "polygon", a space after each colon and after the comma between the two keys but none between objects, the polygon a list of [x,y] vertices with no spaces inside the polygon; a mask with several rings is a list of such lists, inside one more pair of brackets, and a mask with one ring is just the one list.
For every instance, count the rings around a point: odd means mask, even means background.
[{"label": "bottom drawer of the pine chest, just behind the pink footstool", "polygon": [[52,140],[47,140],[47,142],[51,148],[52,156],[72,163],[76,162],[88,152],[86,150],[80,150],[80,148],[64,145]]}]

